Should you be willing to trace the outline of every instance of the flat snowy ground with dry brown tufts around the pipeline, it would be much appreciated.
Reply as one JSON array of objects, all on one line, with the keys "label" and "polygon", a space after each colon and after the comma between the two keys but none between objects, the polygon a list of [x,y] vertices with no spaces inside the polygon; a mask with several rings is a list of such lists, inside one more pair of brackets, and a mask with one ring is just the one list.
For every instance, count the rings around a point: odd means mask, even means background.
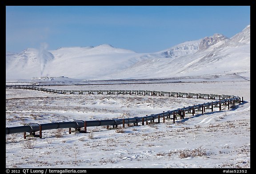
[{"label": "flat snowy ground with dry brown tufts around the pipeline", "polygon": [[[43,138],[6,135],[6,167],[12,168],[250,168],[250,81],[50,86],[51,89],[157,90],[244,97],[232,110],[186,113],[184,120],[117,130],[89,127],[43,131]],[[49,94],[6,89],[6,127],[27,123],[104,120],[161,113],[206,99],[135,95]],[[200,112],[198,112],[200,113]]]}]

